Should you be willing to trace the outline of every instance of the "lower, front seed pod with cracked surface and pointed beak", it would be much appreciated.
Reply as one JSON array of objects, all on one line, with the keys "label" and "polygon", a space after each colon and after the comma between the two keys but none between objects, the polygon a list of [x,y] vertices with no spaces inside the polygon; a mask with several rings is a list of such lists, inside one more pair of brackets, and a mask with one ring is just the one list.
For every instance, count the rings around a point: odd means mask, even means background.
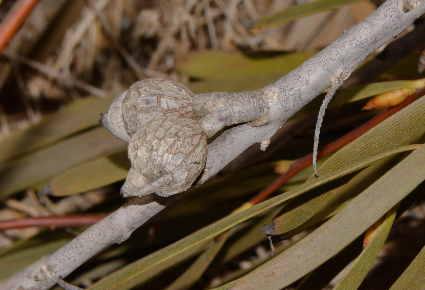
[{"label": "lower, front seed pod with cracked surface and pointed beak", "polygon": [[[123,195],[176,194],[187,190],[204,168],[207,136],[197,121],[156,118],[133,135],[128,156],[134,172],[127,176]],[[131,187],[137,188],[132,192]]]}]

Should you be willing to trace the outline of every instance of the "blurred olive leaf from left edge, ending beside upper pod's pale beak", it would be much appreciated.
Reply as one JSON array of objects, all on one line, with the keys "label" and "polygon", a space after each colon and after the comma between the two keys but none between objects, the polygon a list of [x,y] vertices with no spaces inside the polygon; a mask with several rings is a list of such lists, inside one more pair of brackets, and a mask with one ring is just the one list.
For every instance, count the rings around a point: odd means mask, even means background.
[{"label": "blurred olive leaf from left edge, ending beside upper pod's pale beak", "polygon": [[100,113],[108,111],[115,97],[84,98],[43,119],[37,125],[17,132],[0,143],[0,163],[52,144],[84,129],[99,126]]}]

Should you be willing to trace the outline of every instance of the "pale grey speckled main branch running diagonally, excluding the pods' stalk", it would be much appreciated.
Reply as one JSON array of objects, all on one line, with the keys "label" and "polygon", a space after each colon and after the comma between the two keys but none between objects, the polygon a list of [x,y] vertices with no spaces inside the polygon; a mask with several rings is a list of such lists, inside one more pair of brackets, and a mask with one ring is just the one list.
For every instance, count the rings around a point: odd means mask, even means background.
[{"label": "pale grey speckled main branch running diagonally, excluding the pods' stalk", "polygon": [[[403,7],[405,11],[406,7],[411,10],[405,12]],[[252,144],[268,140],[283,122],[331,86],[333,78],[344,81],[371,53],[403,32],[424,12],[425,4],[418,0],[387,0],[320,53],[261,89],[259,93],[266,96],[270,106],[269,118],[263,120],[266,124],[235,126],[216,138],[208,146],[201,182],[207,181]],[[127,239],[133,230],[178,196],[129,198],[124,206],[59,249],[10,289],[50,288],[59,276],[67,276],[96,253]]]}]

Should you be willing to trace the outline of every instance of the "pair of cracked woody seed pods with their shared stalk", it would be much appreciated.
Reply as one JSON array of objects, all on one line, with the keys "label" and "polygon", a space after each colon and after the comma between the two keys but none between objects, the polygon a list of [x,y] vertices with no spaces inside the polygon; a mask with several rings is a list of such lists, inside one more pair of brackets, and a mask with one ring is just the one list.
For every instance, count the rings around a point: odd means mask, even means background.
[{"label": "pair of cracked woody seed pods with their shared stalk", "polygon": [[129,142],[132,168],[122,195],[168,196],[187,190],[204,168],[207,137],[235,123],[261,125],[269,115],[267,102],[259,92],[195,95],[171,80],[135,83],[100,120]]}]

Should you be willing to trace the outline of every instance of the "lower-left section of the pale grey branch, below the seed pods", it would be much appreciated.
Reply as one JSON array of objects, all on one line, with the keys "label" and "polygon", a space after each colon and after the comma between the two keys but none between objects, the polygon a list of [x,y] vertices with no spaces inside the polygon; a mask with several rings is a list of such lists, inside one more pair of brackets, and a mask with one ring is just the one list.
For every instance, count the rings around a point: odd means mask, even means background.
[{"label": "lower-left section of the pale grey branch, below the seed pods", "polygon": [[172,202],[173,197],[128,198],[126,203],[102,221],[78,235],[70,243],[48,257],[10,289],[48,289],[59,276],[67,276],[96,253],[111,244],[120,244],[131,233]]}]

